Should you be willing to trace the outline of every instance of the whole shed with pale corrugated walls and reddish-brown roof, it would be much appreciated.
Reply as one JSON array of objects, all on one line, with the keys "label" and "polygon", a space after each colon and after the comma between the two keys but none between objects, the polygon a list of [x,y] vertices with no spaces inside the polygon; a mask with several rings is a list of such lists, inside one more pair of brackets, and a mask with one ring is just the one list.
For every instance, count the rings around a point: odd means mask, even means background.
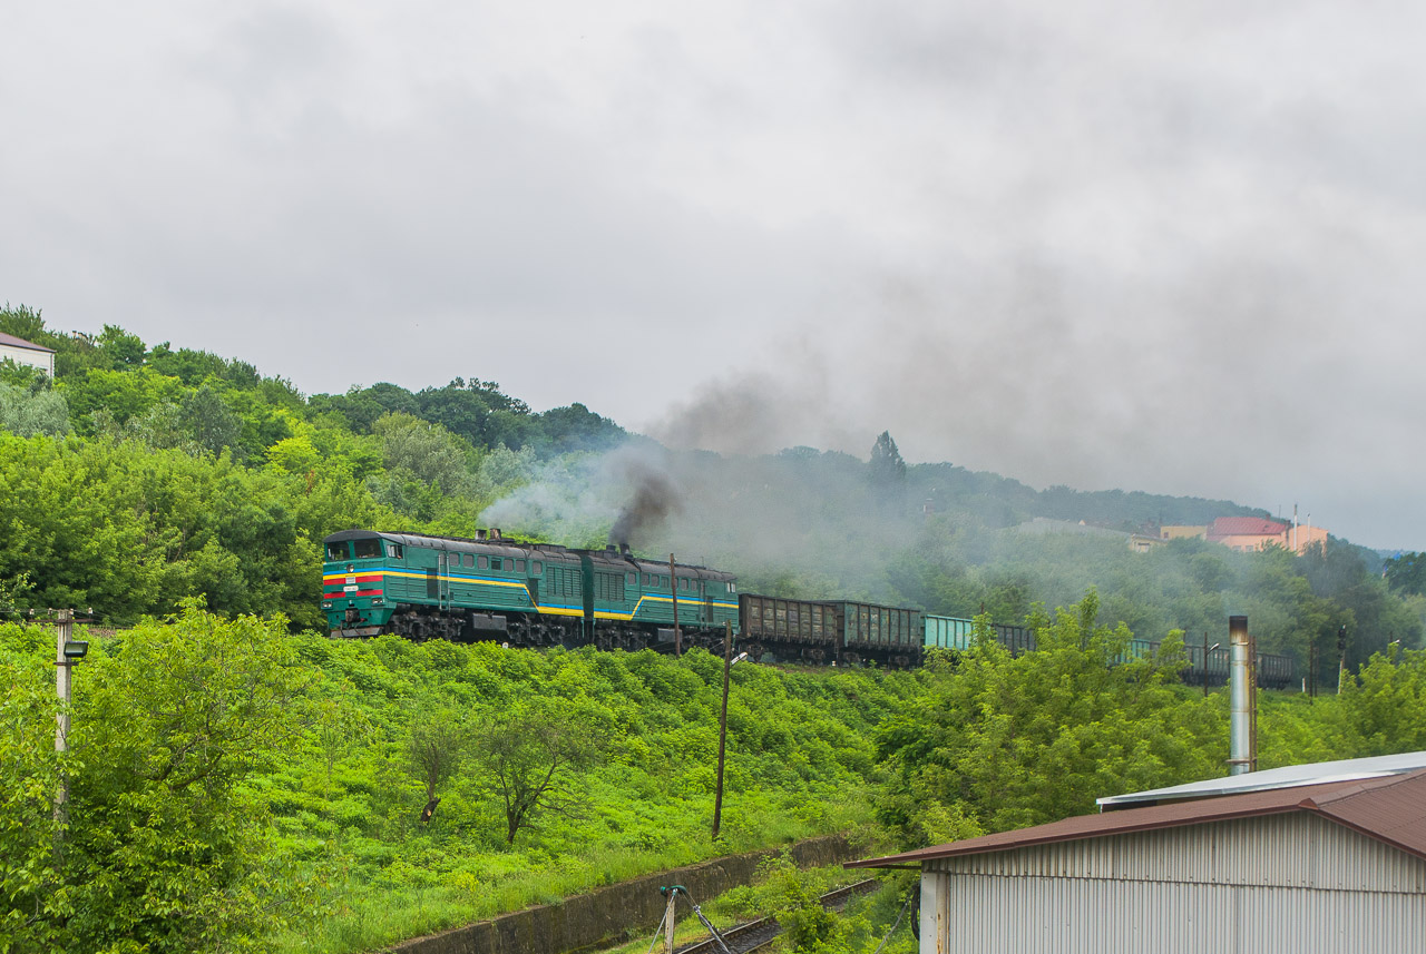
[{"label": "whole shed with pale corrugated walls and reddish-brown roof", "polygon": [[848,867],[921,870],[921,954],[1419,951],[1423,766],[1251,772]]}]

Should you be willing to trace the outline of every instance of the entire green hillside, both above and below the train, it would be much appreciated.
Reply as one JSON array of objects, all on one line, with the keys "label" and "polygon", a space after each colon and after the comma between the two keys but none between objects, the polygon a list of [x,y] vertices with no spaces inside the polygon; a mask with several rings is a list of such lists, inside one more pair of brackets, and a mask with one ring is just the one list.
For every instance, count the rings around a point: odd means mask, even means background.
[{"label": "entire green hillside, both above and below the train", "polygon": [[[1253,511],[908,466],[890,434],[867,460],[672,451],[478,376],[304,396],[27,308],[0,330],[57,352],[53,382],[0,366],[0,951],[361,951],[811,833],[910,847],[1091,810],[1222,772],[1225,699],[1176,683],[1176,631],[1218,641],[1228,614],[1316,645],[1330,688],[1348,632],[1340,695],[1266,699],[1265,765],[1426,745],[1416,554],[1134,552],[1124,531]],[[325,534],[488,525],[983,638],[915,672],[733,669],[713,842],[720,661],[322,635]],[[77,669],[64,756],[48,607],[118,629]],[[1042,651],[1005,655],[991,621]],[[1131,634],[1164,655],[1118,665]]]}]

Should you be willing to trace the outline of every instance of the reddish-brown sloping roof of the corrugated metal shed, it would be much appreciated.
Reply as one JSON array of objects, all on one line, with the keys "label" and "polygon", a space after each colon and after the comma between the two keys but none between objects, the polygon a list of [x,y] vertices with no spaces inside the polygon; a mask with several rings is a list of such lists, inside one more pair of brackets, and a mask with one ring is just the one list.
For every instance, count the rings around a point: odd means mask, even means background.
[{"label": "reddish-brown sloping roof of the corrugated metal shed", "polygon": [[984,854],[1032,844],[1261,817],[1285,812],[1313,812],[1378,842],[1426,859],[1426,770],[1417,770],[1405,776],[1390,775],[1378,779],[1319,783],[1308,787],[1278,787],[1122,812],[1081,814],[1030,829],[998,832],[978,839],[904,851],[903,854],[850,861],[847,867],[900,867],[963,854]]}]

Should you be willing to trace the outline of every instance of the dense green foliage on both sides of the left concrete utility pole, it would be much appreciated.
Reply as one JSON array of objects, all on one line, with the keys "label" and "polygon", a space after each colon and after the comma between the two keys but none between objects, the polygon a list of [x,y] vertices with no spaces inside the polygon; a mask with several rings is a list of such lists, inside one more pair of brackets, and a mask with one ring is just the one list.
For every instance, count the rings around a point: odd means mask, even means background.
[{"label": "dense green foliage on both sides of the left concrete utility pole", "polygon": [[[277,893],[251,782],[299,736],[308,682],[284,621],[195,607],[100,642],[68,752],[54,756],[54,644],[9,624],[0,668],[6,773],[4,951],[260,950]],[[67,822],[53,813],[60,772]]]}]

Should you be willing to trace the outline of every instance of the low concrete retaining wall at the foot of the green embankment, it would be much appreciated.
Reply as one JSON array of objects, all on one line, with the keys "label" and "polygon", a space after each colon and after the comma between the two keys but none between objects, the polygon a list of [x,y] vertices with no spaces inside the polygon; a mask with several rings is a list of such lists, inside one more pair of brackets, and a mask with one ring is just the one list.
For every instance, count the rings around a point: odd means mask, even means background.
[{"label": "low concrete retaining wall at the foot of the green embankment", "polygon": [[[649,874],[633,881],[542,904],[493,921],[479,921],[441,934],[418,937],[386,948],[394,954],[565,954],[602,943],[615,943],[629,931],[652,931],[663,920],[665,898],[659,887],[682,884],[699,904],[747,884],[757,864],[776,851],[754,851]],[[817,867],[851,860],[854,851],[840,834],[810,839],[791,846],[799,867]]]}]

